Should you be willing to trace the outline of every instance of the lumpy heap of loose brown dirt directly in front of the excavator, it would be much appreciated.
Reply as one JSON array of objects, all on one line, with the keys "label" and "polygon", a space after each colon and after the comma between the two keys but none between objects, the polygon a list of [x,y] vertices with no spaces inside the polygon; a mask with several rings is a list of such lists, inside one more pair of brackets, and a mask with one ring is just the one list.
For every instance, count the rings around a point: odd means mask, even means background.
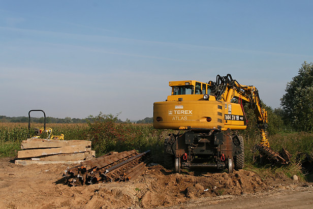
[{"label": "lumpy heap of loose brown dirt directly in front of the excavator", "polygon": [[258,175],[245,170],[194,176],[172,173],[158,165],[148,168],[146,175],[137,181],[140,190],[137,197],[142,207],[171,206],[193,198],[240,195],[267,189]]}]

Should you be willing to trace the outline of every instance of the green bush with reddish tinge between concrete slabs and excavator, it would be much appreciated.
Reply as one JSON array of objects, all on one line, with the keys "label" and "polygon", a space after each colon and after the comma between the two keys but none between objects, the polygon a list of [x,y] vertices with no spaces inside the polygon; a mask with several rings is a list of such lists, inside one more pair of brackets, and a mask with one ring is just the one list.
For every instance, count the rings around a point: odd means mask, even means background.
[{"label": "green bush with reddish tinge between concrete slabs and excavator", "polygon": [[121,152],[151,150],[153,160],[161,162],[163,140],[166,130],[154,129],[152,125],[136,125],[118,121],[118,114],[90,115],[87,118],[86,138],[91,140],[92,149],[97,156],[111,151]]}]

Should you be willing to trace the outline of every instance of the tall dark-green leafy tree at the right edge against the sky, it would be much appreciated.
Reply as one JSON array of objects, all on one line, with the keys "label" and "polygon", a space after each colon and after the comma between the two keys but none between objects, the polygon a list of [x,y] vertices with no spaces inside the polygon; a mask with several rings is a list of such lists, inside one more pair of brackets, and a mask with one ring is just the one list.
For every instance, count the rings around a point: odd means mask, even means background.
[{"label": "tall dark-green leafy tree at the right edge against the sky", "polygon": [[313,132],[313,63],[302,64],[280,101],[287,123],[299,131]]}]

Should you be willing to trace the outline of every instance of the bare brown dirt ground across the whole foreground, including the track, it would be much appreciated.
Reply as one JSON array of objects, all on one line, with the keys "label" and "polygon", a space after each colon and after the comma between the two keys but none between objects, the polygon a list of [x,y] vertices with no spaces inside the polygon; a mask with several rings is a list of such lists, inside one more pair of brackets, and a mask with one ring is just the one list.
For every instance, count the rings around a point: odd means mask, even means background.
[{"label": "bare brown dirt ground across the whole foreground, including the track", "polygon": [[226,208],[313,206],[311,184],[251,171],[176,174],[156,165],[126,183],[69,187],[56,184],[67,165],[20,166],[0,160],[0,208]]}]

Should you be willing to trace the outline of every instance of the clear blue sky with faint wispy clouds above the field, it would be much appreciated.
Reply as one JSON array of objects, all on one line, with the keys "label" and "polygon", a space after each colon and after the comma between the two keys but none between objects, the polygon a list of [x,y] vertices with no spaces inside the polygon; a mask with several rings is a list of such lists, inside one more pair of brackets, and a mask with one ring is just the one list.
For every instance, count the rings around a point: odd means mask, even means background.
[{"label": "clear blue sky with faint wispy clouds above the field", "polygon": [[[312,1],[0,1],[0,115],[152,116],[168,81],[232,74],[280,106],[313,62]],[[41,116],[41,115],[39,115]]]}]

